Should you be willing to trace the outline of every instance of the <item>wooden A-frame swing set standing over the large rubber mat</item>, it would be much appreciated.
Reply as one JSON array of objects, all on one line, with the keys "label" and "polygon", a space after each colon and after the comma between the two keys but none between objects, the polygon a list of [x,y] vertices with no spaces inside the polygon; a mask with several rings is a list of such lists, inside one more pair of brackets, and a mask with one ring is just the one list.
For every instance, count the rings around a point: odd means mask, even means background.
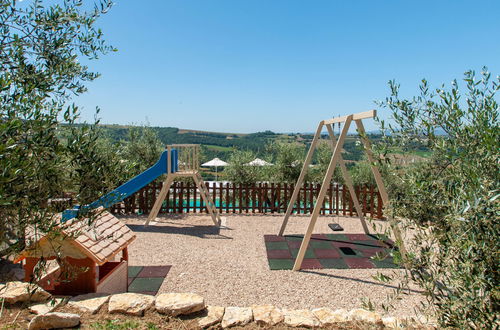
[{"label": "wooden A-frame swing set standing over the large rubber mat", "polygon": [[[318,128],[316,130],[316,133],[314,134],[314,138],[312,140],[311,146],[309,148],[309,151],[306,156],[306,160],[304,161],[304,165],[302,166],[302,170],[300,172],[300,176],[297,180],[297,183],[295,185],[295,189],[293,191],[292,197],[290,199],[290,203],[288,204],[288,208],[285,213],[285,217],[283,219],[283,223],[281,225],[279,235],[282,236],[285,229],[286,225],[288,223],[288,219],[290,218],[290,215],[292,214],[293,207],[295,204],[295,201],[297,200],[297,196],[300,191],[300,187],[302,186],[304,182],[304,177],[309,169],[309,164],[311,163],[314,151],[318,145],[318,141],[321,137],[321,132],[323,131],[323,126],[326,126],[326,129],[328,131],[329,138],[332,143],[332,157],[330,159],[330,163],[328,165],[328,169],[326,171],[325,177],[323,178],[323,183],[321,185],[321,189],[318,195],[318,198],[316,199],[316,202],[314,204],[314,210],[311,214],[311,219],[309,221],[309,225],[307,227],[306,233],[304,235],[304,238],[302,240],[302,243],[300,245],[299,252],[297,254],[297,258],[295,259],[295,264],[293,266],[293,270],[300,270],[302,266],[302,262],[304,260],[304,256],[307,250],[307,247],[309,245],[309,241],[311,240],[311,235],[314,230],[314,226],[316,224],[316,220],[318,219],[319,213],[321,211],[321,206],[323,205],[323,201],[325,199],[325,195],[328,190],[328,186],[330,181],[332,180],[332,176],[334,173],[334,170],[337,166],[337,164],[340,165],[340,169],[342,172],[342,175],[345,180],[345,184],[347,188],[349,189],[349,194],[351,195],[351,199],[353,201],[354,207],[356,208],[356,213],[359,217],[359,220],[361,222],[361,225],[363,226],[363,230],[366,234],[369,234],[370,231],[368,229],[368,226],[366,225],[365,218],[363,216],[363,212],[361,209],[361,206],[359,204],[358,198],[356,196],[356,192],[354,190],[354,186],[352,184],[352,179],[349,175],[349,172],[347,171],[347,168],[345,166],[344,159],[342,158],[341,152],[342,152],[342,147],[344,146],[345,138],[347,136],[347,132],[349,131],[349,127],[351,126],[352,121],[356,123],[358,133],[361,136],[361,140],[363,142],[363,146],[366,152],[366,155],[368,157],[368,161],[370,162],[370,167],[372,170],[373,175],[375,176],[375,181],[377,183],[377,188],[378,191],[380,192],[380,196],[382,197],[382,202],[384,205],[389,204],[389,196],[387,194],[387,190],[385,189],[384,183],[382,181],[382,177],[380,175],[380,172],[375,165],[374,158],[373,158],[373,153],[371,151],[371,144],[368,138],[366,137],[366,132],[365,128],[363,126],[363,119],[368,119],[368,118],[373,118],[376,116],[376,111],[371,110],[371,111],[366,111],[366,112],[361,112],[361,113],[356,113],[356,114],[351,114],[343,117],[337,117],[337,118],[332,118],[332,119],[326,119],[322,120]],[[335,137],[335,133],[333,131],[333,125],[335,124],[344,124],[342,131],[339,135],[339,138]],[[399,228],[397,227],[397,224],[395,220],[392,217],[388,217],[389,223],[391,226],[391,229],[394,232],[394,235],[396,239],[399,242],[402,242],[401,238],[401,232],[399,231]],[[401,253],[404,254],[404,247],[401,245]]]}]

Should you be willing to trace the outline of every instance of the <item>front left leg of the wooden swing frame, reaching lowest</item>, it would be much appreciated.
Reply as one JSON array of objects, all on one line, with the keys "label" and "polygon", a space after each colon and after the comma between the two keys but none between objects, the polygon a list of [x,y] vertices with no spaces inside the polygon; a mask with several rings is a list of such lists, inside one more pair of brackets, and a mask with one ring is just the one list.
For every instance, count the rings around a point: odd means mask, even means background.
[{"label": "front left leg of the wooden swing frame, reaching lowest", "polygon": [[297,259],[295,259],[293,270],[300,270],[300,267],[302,266],[302,261],[304,260],[307,246],[309,245],[309,241],[311,240],[311,235],[314,230],[314,226],[316,225],[316,220],[318,219],[319,211],[321,209],[321,204],[323,203],[323,199],[325,198],[325,194],[328,189],[328,184],[332,180],[333,171],[337,166],[337,161],[342,151],[342,146],[344,145],[345,137],[347,136],[347,132],[349,131],[349,126],[351,125],[352,117],[353,117],[352,115],[347,116],[344,127],[342,129],[342,133],[340,134],[340,137],[337,141],[337,145],[335,146],[332,158],[330,159],[330,164],[328,165],[328,170],[326,171],[326,175],[323,178],[323,183],[321,184],[321,190],[319,192],[318,199],[316,200],[316,205],[314,206],[314,211],[311,215],[309,226],[307,227],[304,239],[302,240],[302,244],[300,245]]}]

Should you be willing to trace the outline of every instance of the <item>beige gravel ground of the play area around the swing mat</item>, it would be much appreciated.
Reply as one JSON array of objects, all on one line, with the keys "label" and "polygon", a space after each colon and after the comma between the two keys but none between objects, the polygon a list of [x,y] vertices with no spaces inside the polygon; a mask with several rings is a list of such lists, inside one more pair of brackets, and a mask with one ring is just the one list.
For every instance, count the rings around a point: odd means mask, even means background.
[{"label": "beige gravel ground of the play area around the swing mat", "polygon": [[[377,272],[392,274],[394,270],[269,270],[263,235],[277,234],[282,219],[227,216],[226,227],[219,230],[204,215],[158,218],[148,227],[143,226],[145,218],[122,218],[137,235],[129,247],[130,265],[173,266],[160,293],[195,292],[209,305],[353,309],[361,306],[362,298],[381,303],[394,292],[393,286],[372,278]],[[286,234],[303,234],[308,220],[291,217]],[[336,218],[320,217],[314,233],[331,233],[327,225],[332,220]],[[339,222],[345,233],[363,232],[355,218]],[[421,300],[416,292],[404,295],[390,314],[412,316]]]}]

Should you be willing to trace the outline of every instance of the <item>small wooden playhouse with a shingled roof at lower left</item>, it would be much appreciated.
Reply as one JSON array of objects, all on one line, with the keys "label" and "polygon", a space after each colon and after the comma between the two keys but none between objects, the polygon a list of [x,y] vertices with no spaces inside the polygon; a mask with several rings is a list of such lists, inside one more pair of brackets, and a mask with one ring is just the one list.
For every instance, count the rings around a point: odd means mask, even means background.
[{"label": "small wooden playhouse with a shingled roof at lower left", "polygon": [[127,226],[101,208],[92,221],[75,218],[58,227],[51,235],[29,235],[28,247],[16,258],[24,261],[25,281],[43,258],[57,261],[38,281],[52,294],[127,292],[127,247],[135,239]]}]

